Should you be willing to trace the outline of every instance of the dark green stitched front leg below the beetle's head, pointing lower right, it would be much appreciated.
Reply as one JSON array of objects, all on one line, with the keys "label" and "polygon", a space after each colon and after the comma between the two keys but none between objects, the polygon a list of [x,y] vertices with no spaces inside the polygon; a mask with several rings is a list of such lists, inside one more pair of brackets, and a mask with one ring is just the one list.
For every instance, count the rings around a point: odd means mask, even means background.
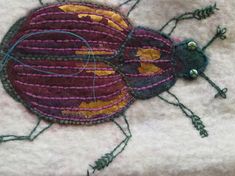
[{"label": "dark green stitched front leg below the beetle's head, pointing lower right", "polygon": [[192,110],[190,110],[188,107],[186,107],[184,104],[182,104],[179,99],[177,98],[176,95],[174,95],[173,93],[171,93],[170,91],[167,91],[167,93],[169,93],[176,101],[177,103],[171,102],[165,98],[163,98],[162,96],[158,95],[158,97],[165,101],[168,104],[174,105],[179,107],[182,112],[192,120],[192,124],[194,125],[194,127],[199,131],[199,134],[202,138],[207,137],[208,136],[208,132],[205,129],[205,125],[203,124],[202,120],[200,119],[199,116],[197,116],[196,114],[194,114],[194,112]]}]

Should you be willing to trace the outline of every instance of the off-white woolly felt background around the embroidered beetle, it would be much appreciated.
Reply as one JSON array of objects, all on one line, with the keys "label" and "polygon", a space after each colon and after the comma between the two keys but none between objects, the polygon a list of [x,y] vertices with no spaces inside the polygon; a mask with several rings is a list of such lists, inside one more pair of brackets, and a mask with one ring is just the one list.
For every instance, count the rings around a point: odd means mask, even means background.
[{"label": "off-white woolly felt background around the embroidered beetle", "polygon": [[[103,0],[117,5],[118,0]],[[212,0],[142,0],[130,15],[135,26],[159,29],[171,17],[214,3]],[[218,25],[228,39],[207,51],[206,74],[229,89],[228,98],[214,99],[203,79],[179,79],[171,89],[202,117],[209,131],[200,138],[191,121],[171,105],[152,98],[137,101],[126,112],[133,137],[126,150],[98,176],[235,176],[235,1],[217,0],[220,11],[203,21],[180,23],[173,34],[204,45]],[[37,0],[0,0],[0,38]],[[123,8],[126,11],[126,8]],[[121,121],[121,119],[119,119]],[[36,117],[0,86],[0,134],[28,134]],[[45,125],[45,124],[44,124]],[[89,164],[109,152],[124,137],[113,123],[92,127],[54,125],[33,142],[0,144],[0,176],[83,176]]]}]

